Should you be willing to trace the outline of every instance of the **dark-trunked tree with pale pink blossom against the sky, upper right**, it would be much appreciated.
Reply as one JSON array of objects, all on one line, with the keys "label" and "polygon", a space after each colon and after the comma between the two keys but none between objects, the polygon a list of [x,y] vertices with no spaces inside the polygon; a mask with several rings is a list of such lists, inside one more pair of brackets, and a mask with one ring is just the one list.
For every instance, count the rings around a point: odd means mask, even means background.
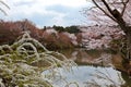
[{"label": "dark-trunked tree with pale pink blossom against the sky, upper right", "polygon": [[[95,4],[85,9],[86,16],[109,25],[117,24],[126,34],[126,59],[131,61],[131,0],[92,0]],[[90,13],[90,14],[88,14]],[[88,15],[87,15],[88,14]],[[105,16],[106,15],[106,16]],[[108,18],[108,17],[109,18]]]}]

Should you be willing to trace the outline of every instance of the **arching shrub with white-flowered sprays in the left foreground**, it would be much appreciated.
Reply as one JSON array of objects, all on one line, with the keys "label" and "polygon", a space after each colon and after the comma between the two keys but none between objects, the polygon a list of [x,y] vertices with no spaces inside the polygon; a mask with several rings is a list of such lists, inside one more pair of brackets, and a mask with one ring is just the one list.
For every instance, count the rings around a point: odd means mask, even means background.
[{"label": "arching shrub with white-flowered sprays in the left foreground", "polygon": [[75,63],[59,52],[48,51],[25,32],[13,45],[0,46],[0,87],[52,87],[41,72],[58,66],[70,71],[72,65]]}]

